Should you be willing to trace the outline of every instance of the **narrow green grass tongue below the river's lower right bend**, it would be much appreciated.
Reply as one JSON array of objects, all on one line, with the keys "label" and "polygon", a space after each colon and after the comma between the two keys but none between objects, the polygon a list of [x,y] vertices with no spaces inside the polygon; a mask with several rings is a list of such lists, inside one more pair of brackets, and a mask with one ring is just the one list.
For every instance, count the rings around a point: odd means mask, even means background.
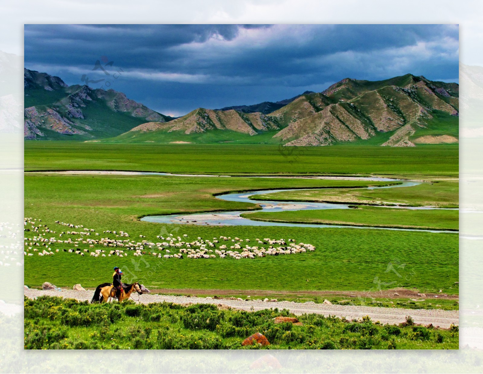
[{"label": "narrow green grass tongue below the river's lower right bend", "polygon": [[352,209],[254,212],[242,216],[259,221],[457,230],[459,211],[355,206]]}]

